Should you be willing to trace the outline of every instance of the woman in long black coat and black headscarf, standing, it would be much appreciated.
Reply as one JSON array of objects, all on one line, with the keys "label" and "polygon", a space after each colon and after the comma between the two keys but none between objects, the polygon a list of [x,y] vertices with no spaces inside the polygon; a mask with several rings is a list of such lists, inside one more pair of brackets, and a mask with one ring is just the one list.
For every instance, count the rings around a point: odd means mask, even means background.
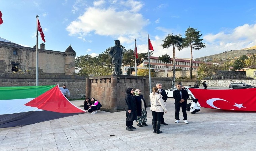
[{"label": "woman in long black coat and black headscarf, standing", "polygon": [[133,89],[128,88],[126,90],[126,96],[125,96],[125,111],[126,111],[126,130],[127,131],[133,131],[136,129],[133,127],[133,121],[137,120],[137,109],[136,109],[136,102],[133,97]]}]

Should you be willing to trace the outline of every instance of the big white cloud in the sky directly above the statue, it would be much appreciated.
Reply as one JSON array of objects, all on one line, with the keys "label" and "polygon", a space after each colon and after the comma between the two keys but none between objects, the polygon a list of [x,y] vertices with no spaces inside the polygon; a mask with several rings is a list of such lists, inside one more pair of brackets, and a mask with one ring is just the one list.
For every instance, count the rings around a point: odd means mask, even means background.
[{"label": "big white cloud in the sky directly above the statue", "polygon": [[96,34],[113,38],[126,37],[122,43],[129,42],[130,38],[134,39],[141,35],[143,27],[149,24],[148,19],[135,13],[142,4],[135,6],[131,2],[133,1],[121,3],[129,9],[120,11],[111,6],[107,9],[89,7],[83,15],[72,21],[66,30],[70,36],[85,37],[88,34]]}]

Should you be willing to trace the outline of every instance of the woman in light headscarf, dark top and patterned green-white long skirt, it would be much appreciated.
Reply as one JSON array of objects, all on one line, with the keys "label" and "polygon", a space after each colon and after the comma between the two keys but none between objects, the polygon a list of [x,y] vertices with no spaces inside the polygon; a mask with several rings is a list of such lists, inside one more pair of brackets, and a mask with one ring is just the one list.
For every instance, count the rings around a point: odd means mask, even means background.
[{"label": "woman in light headscarf, dark top and patterned green-white long skirt", "polygon": [[147,106],[146,106],[146,102],[144,100],[143,95],[141,95],[140,93],[141,93],[141,90],[139,89],[136,89],[134,91],[134,98],[136,101],[137,114],[138,114],[138,119],[136,120],[138,127],[142,127],[142,125],[148,126],[148,124],[146,124],[147,122],[146,107]]}]

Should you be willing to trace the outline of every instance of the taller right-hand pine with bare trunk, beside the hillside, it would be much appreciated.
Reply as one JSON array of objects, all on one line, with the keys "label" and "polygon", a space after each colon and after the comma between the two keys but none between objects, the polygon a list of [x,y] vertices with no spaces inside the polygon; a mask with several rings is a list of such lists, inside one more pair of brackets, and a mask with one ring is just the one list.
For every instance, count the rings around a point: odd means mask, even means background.
[{"label": "taller right-hand pine with bare trunk, beside the hillside", "polygon": [[190,79],[192,79],[192,60],[193,60],[193,54],[192,50],[199,50],[201,48],[206,47],[205,44],[202,42],[203,39],[200,39],[202,34],[200,34],[200,31],[196,31],[196,29],[189,27],[185,31],[185,39],[183,46],[184,47],[190,47],[190,53],[191,53],[191,59],[190,59]]}]

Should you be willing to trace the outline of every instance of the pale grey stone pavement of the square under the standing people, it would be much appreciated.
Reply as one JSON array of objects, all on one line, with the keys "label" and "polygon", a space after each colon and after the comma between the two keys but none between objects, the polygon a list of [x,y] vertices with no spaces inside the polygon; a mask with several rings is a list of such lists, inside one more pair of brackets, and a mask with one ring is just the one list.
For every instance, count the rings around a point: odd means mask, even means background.
[{"label": "pale grey stone pavement of the square under the standing people", "polygon": [[[82,105],[83,100],[71,101]],[[0,151],[169,151],[169,150],[256,150],[255,112],[202,108],[188,113],[189,124],[174,123],[174,99],[166,102],[168,112],[161,134],[154,134],[152,114],[148,127],[126,131],[125,111],[80,114],[26,126],[0,129]]]}]

